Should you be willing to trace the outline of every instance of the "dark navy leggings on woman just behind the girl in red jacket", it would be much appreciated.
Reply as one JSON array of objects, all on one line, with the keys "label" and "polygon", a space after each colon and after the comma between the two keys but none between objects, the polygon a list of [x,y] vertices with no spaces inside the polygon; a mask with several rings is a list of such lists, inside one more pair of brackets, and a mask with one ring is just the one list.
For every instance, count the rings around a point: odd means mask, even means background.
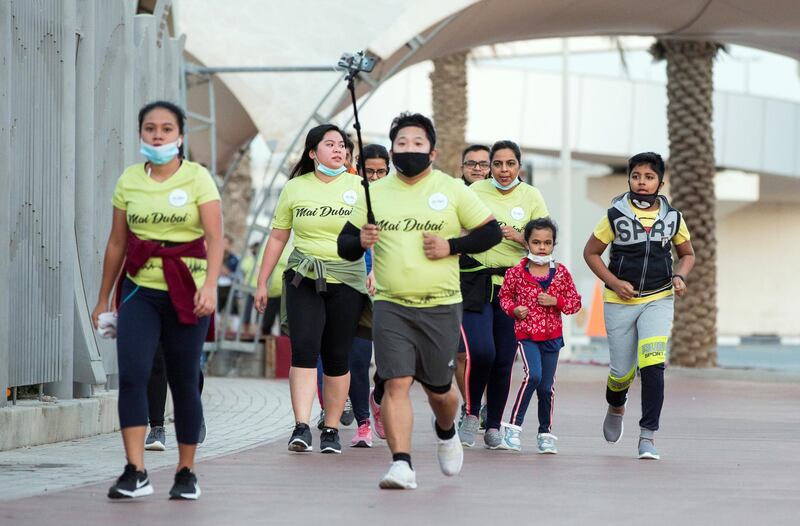
[{"label": "dark navy leggings on woman just behind the girl in red jacket", "polygon": [[514,320],[495,298],[484,304],[480,313],[464,311],[461,326],[467,350],[467,414],[478,415],[486,390],[486,428],[499,429],[517,353]]}]

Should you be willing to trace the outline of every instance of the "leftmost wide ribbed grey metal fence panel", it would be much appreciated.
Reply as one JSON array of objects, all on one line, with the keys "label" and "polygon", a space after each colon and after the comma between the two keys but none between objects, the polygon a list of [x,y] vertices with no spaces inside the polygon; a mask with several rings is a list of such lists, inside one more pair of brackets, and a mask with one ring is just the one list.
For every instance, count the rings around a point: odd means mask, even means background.
[{"label": "leftmost wide ribbed grey metal fence panel", "polygon": [[[58,381],[71,357],[75,2],[10,1],[9,384]],[[47,111],[41,111],[47,109]],[[68,362],[68,363],[67,363]],[[70,369],[71,374],[71,369]]]}]

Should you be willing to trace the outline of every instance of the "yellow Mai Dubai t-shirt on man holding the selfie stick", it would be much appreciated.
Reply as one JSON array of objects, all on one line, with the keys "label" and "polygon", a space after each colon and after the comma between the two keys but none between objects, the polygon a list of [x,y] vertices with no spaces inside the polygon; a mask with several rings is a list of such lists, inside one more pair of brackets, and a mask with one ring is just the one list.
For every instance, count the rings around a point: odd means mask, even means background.
[{"label": "yellow Mai Dubai t-shirt on man holding the selfie stick", "polygon": [[[409,185],[396,174],[370,185],[380,238],[373,252],[375,301],[408,307],[452,305],[461,301],[458,256],[435,261],[425,257],[422,233],[444,239],[461,236],[486,221],[491,212],[460,179],[433,170]],[[366,204],[353,210],[358,228],[367,222]]]}]

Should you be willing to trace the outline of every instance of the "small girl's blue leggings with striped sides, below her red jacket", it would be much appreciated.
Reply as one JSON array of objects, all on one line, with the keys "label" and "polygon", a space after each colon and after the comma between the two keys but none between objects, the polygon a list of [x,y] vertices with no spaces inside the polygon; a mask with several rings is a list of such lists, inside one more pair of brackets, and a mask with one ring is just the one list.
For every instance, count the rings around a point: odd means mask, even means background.
[{"label": "small girl's blue leggings with striped sides, below her red jacket", "polygon": [[558,367],[558,351],[542,351],[536,342],[522,340],[522,370],[524,376],[519,386],[514,408],[511,410],[511,423],[522,426],[525,412],[531,403],[534,391],[539,399],[539,433],[549,433],[553,423],[553,399],[556,367]]}]

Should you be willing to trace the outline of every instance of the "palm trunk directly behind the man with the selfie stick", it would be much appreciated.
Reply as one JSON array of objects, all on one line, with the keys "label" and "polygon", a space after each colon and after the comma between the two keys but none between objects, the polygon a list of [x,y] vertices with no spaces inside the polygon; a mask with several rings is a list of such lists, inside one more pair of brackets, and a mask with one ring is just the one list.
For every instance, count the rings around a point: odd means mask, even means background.
[{"label": "palm trunk directly behind the man with the selfie stick", "polygon": [[466,147],[467,52],[433,61],[431,93],[436,125],[436,166],[453,177],[461,177],[461,152]]}]

